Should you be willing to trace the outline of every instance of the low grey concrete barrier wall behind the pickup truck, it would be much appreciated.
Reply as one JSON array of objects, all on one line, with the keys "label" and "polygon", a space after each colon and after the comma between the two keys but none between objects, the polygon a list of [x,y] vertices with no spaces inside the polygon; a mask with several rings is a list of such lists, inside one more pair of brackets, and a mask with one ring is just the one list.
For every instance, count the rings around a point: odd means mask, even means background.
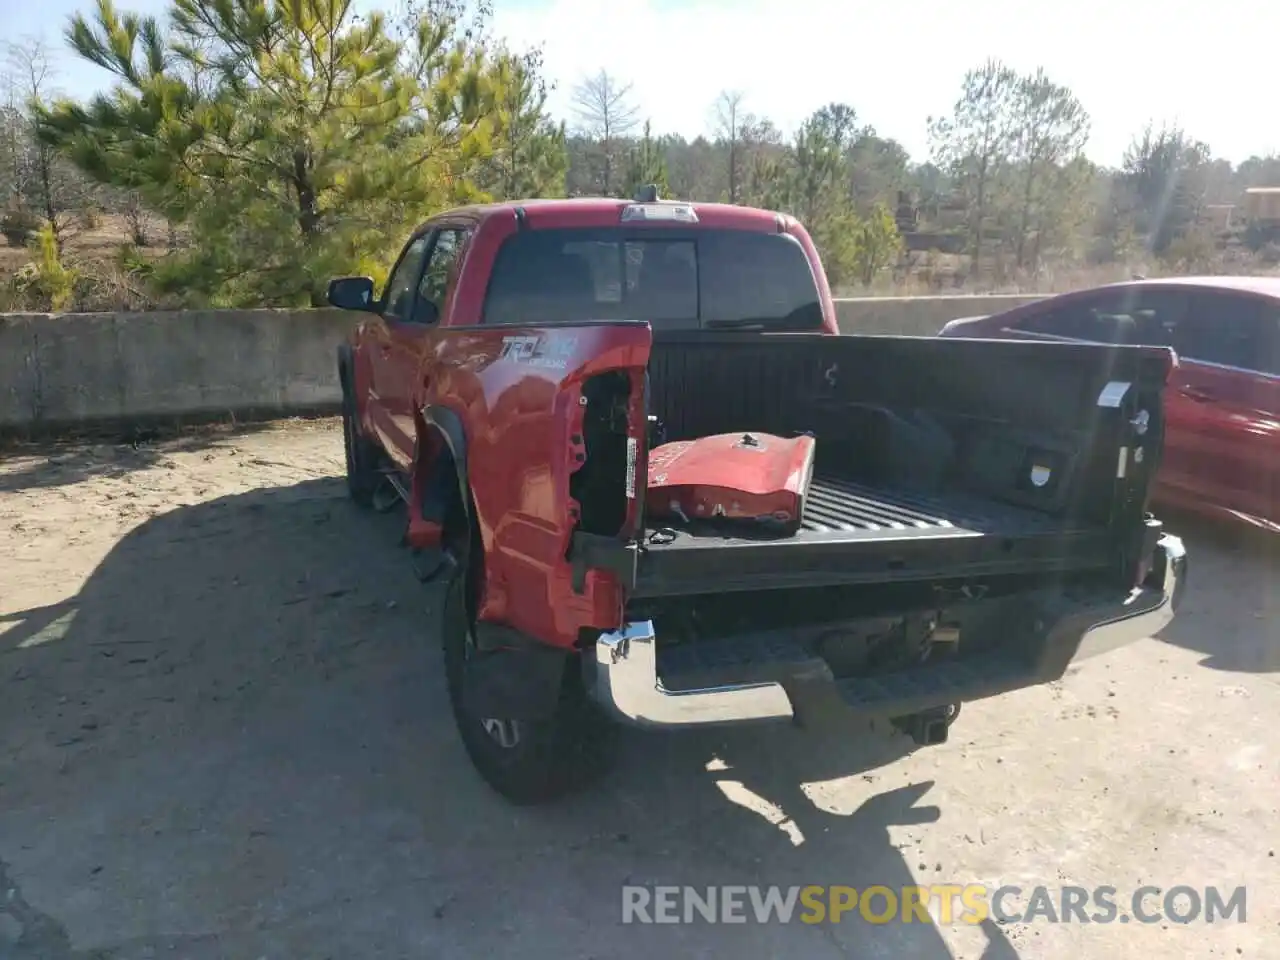
[{"label": "low grey concrete barrier wall behind the pickup truck", "polygon": [[[837,301],[841,333],[932,335],[1034,297]],[[0,315],[0,428],[323,412],[357,314],[221,310]]]}]

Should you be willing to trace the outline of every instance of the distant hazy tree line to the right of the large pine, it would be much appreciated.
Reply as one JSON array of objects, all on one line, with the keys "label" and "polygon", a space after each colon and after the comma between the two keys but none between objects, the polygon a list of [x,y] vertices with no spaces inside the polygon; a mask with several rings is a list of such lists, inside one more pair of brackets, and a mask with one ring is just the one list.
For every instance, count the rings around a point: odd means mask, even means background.
[{"label": "distant hazy tree line to the right of the large pine", "polygon": [[[1248,187],[1280,187],[1280,156],[1235,166],[1178,125],[1147,124],[1116,166],[1096,164],[1087,109],[1043,69],[1019,74],[987,60],[969,70],[950,111],[928,118],[920,159],[850,104],[822,106],[786,136],[733,91],[712,105],[707,136],[654,141],[648,127],[636,134],[628,95],[605,72],[575,90],[571,195],[625,192],[644,172],[675,196],[786,210],[814,233],[840,284],[904,262],[904,247],[963,255],[970,275],[1034,283],[1046,262],[1204,269],[1224,247],[1256,252],[1275,239],[1274,229],[1240,216],[1228,229],[1213,214]],[[653,159],[618,173],[636,156]],[[1280,262],[1280,246],[1265,253],[1244,268]]]}]

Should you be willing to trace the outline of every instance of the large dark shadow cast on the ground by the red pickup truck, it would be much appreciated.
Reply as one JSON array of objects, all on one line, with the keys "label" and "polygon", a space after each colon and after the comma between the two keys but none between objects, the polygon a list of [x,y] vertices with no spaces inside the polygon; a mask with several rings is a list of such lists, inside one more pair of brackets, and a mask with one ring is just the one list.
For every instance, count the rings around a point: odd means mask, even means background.
[{"label": "large dark shadow cast on the ground by the red pickup truck", "polygon": [[[952,956],[933,923],[622,925],[625,883],[900,888],[902,829],[956,827],[886,767],[905,741],[790,728],[628,735],[604,783],[506,805],[454,735],[398,522],[339,480],[228,497],[5,614],[0,955]],[[823,805],[841,777],[854,809]],[[965,956],[1016,956],[980,933]]]}]

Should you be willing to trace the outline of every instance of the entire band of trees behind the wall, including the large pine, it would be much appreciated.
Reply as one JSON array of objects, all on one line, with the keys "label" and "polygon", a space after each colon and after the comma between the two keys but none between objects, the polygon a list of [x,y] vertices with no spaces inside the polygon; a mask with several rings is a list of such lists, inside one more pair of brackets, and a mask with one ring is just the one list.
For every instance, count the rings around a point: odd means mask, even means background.
[{"label": "entire band of trees behind the wall, including the large pine", "polygon": [[854,105],[785,132],[737,91],[686,140],[654,134],[631,86],[603,69],[554,118],[540,52],[495,37],[490,14],[489,0],[407,0],[394,14],[357,14],[349,0],[170,0],[161,22],[97,0],[65,31],[74,55],[113,77],[88,101],[56,96],[46,49],[12,47],[0,230],[37,256],[3,280],[9,300],[86,300],[95,276],[64,262],[68,243],[106,214],[128,224],[115,274],[127,298],[302,305],[333,275],[381,279],[399,239],[442,209],[627,197],[648,183],[795,214],[841,287],[910,271],[928,251],[955,255],[969,280],[1032,284],[1046,264],[1198,268],[1236,239],[1280,252],[1208,216],[1244,187],[1280,186],[1280,157],[1233,166],[1180,128],[1148,127],[1119,166],[1100,166],[1085,155],[1085,106],[1043,70],[969,70],[929,118],[924,157]]}]

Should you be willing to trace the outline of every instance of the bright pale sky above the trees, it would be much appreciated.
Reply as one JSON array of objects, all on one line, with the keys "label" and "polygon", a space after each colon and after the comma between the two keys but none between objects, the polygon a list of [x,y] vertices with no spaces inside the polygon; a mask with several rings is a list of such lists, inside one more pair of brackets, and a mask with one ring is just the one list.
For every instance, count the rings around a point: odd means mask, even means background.
[{"label": "bright pale sky above the trees", "polygon": [[[165,0],[115,0],[160,14]],[[396,0],[357,0],[392,8]],[[61,31],[92,0],[0,0],[8,37]],[[995,56],[1043,67],[1092,116],[1088,154],[1119,164],[1153,122],[1179,123],[1215,156],[1239,163],[1280,152],[1274,108],[1280,59],[1277,0],[494,0],[494,29],[516,47],[540,44],[556,83],[553,110],[572,123],[570,93],[607,69],[632,84],[654,133],[713,128],[723,90],[791,132],[823,104],[928,151],[927,123],[956,100],[964,72]],[[58,60],[72,96],[108,77],[70,54]]]}]

